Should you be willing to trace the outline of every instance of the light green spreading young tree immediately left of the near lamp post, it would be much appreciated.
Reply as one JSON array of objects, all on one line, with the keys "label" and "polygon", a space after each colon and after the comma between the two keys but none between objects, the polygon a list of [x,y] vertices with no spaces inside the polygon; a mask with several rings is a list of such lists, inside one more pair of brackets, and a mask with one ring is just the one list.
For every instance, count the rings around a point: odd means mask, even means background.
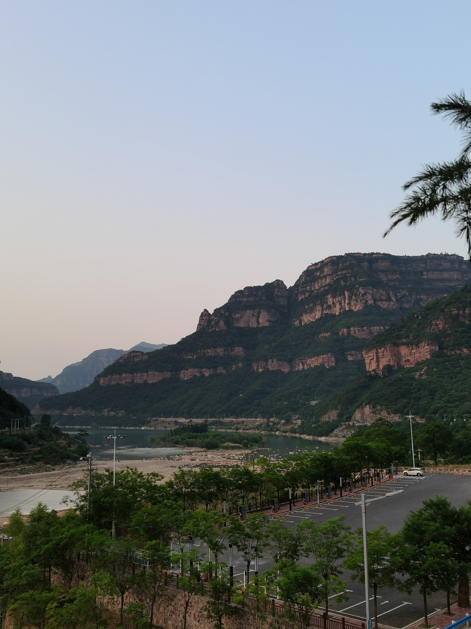
[{"label": "light green spreading young tree immediately left of the near lamp post", "polygon": [[329,596],[337,594],[336,601],[347,601],[342,594],[347,583],[340,580],[342,563],[351,544],[350,526],[344,516],[332,518],[321,525],[306,520],[296,526],[303,541],[304,550],[313,558],[313,569],[322,577],[319,592],[325,601],[325,618],[328,618]]}]

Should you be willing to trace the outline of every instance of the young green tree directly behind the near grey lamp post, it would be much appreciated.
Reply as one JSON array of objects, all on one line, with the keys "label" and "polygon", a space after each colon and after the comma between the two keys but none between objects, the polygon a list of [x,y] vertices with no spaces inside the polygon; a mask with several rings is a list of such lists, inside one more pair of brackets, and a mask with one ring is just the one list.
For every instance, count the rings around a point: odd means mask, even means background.
[{"label": "young green tree directly behind the near grey lamp post", "polygon": [[[386,526],[379,526],[367,532],[369,587],[373,591],[375,629],[378,627],[377,591],[385,587],[393,587],[395,582],[389,558],[396,546],[396,540],[396,535],[388,533]],[[363,530],[361,528],[355,532],[354,543],[345,559],[344,566],[352,571],[354,581],[358,579],[360,583],[365,582]]]}]

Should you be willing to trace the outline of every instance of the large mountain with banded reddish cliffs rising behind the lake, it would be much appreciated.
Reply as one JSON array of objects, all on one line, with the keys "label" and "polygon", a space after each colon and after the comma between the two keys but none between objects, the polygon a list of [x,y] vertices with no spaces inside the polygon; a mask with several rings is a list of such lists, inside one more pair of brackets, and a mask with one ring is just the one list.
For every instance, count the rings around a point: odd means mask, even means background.
[{"label": "large mountain with banded reddish cliffs rising behind the lake", "polygon": [[237,291],[175,345],[122,355],[86,389],[43,399],[34,412],[308,421],[365,374],[365,342],[470,280],[457,255],[328,258],[291,288],[276,280]]}]

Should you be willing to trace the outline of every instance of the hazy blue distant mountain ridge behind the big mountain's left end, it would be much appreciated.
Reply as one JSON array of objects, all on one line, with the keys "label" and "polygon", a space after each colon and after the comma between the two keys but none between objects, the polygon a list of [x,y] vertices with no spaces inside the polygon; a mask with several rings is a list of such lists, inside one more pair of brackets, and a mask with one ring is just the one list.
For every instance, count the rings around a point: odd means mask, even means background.
[{"label": "hazy blue distant mountain ridge behind the big mountain's left end", "polygon": [[71,365],[64,367],[62,372],[55,378],[48,376],[42,378],[37,382],[48,382],[57,387],[59,393],[67,393],[69,391],[78,391],[89,386],[102,370],[112,362],[119,359],[119,357],[127,352],[153,352],[154,350],[160,350],[166,347],[166,343],[160,345],[154,345],[153,343],[146,343],[141,341],[138,345],[134,345],[129,350],[115,350],[112,348],[106,350],[95,350],[90,353],[86,358],[79,362],[74,362]]}]

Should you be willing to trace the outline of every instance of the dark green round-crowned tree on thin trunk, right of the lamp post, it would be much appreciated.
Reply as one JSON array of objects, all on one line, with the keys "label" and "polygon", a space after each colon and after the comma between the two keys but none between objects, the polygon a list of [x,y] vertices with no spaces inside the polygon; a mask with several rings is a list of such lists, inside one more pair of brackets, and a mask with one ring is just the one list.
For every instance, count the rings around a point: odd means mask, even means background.
[{"label": "dark green round-crowned tree on thin trunk, right of the lamp post", "polygon": [[[399,533],[401,535],[401,533]],[[447,588],[450,575],[457,568],[444,543],[410,545],[401,535],[391,554],[391,569],[399,572],[404,581],[398,583],[399,591],[412,594],[414,587],[423,598],[424,625],[428,627],[427,596]]]}]

